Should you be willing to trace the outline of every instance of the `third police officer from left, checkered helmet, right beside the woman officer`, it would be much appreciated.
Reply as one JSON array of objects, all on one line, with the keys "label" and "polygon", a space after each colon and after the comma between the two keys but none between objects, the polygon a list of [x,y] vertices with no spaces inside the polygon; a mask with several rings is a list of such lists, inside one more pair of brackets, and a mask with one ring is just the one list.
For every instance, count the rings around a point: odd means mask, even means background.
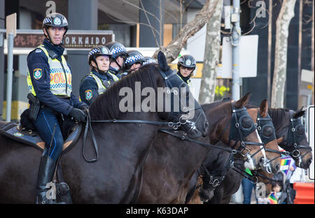
[{"label": "third police officer from left, checkered helmet, right beside the woman officer", "polygon": [[[128,56],[125,46],[122,43],[111,42],[106,43],[105,47],[109,48],[109,51],[111,52],[109,72],[115,75],[122,73],[125,66],[125,59]],[[119,75],[118,77],[120,78]]]}]

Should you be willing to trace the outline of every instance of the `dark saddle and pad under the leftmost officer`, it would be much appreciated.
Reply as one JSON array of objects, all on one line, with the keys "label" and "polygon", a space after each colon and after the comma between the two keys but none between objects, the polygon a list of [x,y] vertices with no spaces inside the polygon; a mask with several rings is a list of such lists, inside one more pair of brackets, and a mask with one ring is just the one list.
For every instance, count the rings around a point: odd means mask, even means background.
[{"label": "dark saddle and pad under the leftmost officer", "polygon": [[[67,150],[69,150],[69,147],[71,147],[71,145],[74,145],[76,143],[81,131],[82,124],[74,124],[74,126],[71,128],[71,133],[69,133],[69,136],[64,141],[62,152],[66,152]],[[43,152],[45,148],[45,142],[43,141],[43,139],[41,139],[38,133],[34,130],[23,127],[21,124],[10,122],[0,129],[0,134],[16,140],[20,143],[35,147],[41,152]]]}]

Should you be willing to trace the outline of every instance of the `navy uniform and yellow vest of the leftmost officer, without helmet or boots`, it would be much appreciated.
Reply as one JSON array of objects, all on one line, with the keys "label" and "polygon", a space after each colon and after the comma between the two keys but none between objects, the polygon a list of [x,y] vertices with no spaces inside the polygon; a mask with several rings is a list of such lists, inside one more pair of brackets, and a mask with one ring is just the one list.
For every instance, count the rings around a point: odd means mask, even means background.
[{"label": "navy uniform and yellow vest of the leftmost officer, without helmet or boots", "polygon": [[[38,46],[27,57],[29,90],[43,104],[34,126],[46,144],[43,156],[48,155],[55,161],[62,152],[64,143],[58,116],[60,114],[68,116],[73,108],[86,106],[71,92],[71,68],[62,56],[63,52],[64,48],[52,45],[45,39],[43,45]],[[48,57],[49,54],[52,57]],[[51,68],[52,61],[55,63],[59,61],[62,68]],[[55,136],[52,140],[55,124]],[[52,146],[49,149],[47,145],[50,145],[51,140]]]}]

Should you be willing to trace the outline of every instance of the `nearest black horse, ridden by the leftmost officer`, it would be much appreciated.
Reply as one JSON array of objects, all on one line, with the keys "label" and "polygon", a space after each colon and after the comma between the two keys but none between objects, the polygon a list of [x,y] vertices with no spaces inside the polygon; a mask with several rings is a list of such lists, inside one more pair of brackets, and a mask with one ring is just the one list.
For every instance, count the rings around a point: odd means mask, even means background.
[{"label": "nearest black horse, ridden by the leftmost officer", "polygon": [[[163,77],[160,71],[164,72]],[[121,89],[128,88],[135,94],[135,83],[140,82],[141,89],[151,87],[158,93],[159,87],[165,88],[165,78],[171,75],[172,71],[162,54],[158,65],[144,66],[136,73],[126,76],[92,103],[91,118],[99,121],[92,123],[98,145],[98,161],[91,163],[83,159],[83,133],[76,145],[62,154],[64,181],[69,184],[73,203],[132,203],[139,194],[142,166],[157,135],[158,125],[147,122],[105,123],[103,120],[165,120],[192,130],[188,131],[188,135],[193,138],[207,133],[207,119],[201,108],[195,110],[195,117],[183,123],[181,117],[187,115],[187,112],[167,111],[165,106],[162,107],[164,110],[158,111],[158,101],[161,101],[158,96],[153,98],[153,111],[132,112],[136,103],[132,103],[132,110],[128,110],[130,112],[120,111],[120,102],[125,97],[120,96]],[[162,101],[165,101],[165,97]],[[0,127],[5,124],[6,122],[1,122]],[[36,176],[41,154],[34,147],[0,134],[0,203],[35,202]],[[87,137],[85,156],[90,158],[94,155],[92,139]]]}]

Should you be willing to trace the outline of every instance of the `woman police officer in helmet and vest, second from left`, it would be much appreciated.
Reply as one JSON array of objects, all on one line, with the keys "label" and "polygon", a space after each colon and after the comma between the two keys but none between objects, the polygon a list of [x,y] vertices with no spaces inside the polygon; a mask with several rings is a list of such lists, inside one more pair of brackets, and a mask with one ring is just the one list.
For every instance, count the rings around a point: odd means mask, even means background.
[{"label": "woman police officer in helmet and vest, second from left", "polygon": [[102,45],[92,48],[88,54],[91,72],[81,80],[80,99],[89,106],[99,94],[104,93],[110,85],[119,80],[109,71],[110,59],[109,48]]}]

